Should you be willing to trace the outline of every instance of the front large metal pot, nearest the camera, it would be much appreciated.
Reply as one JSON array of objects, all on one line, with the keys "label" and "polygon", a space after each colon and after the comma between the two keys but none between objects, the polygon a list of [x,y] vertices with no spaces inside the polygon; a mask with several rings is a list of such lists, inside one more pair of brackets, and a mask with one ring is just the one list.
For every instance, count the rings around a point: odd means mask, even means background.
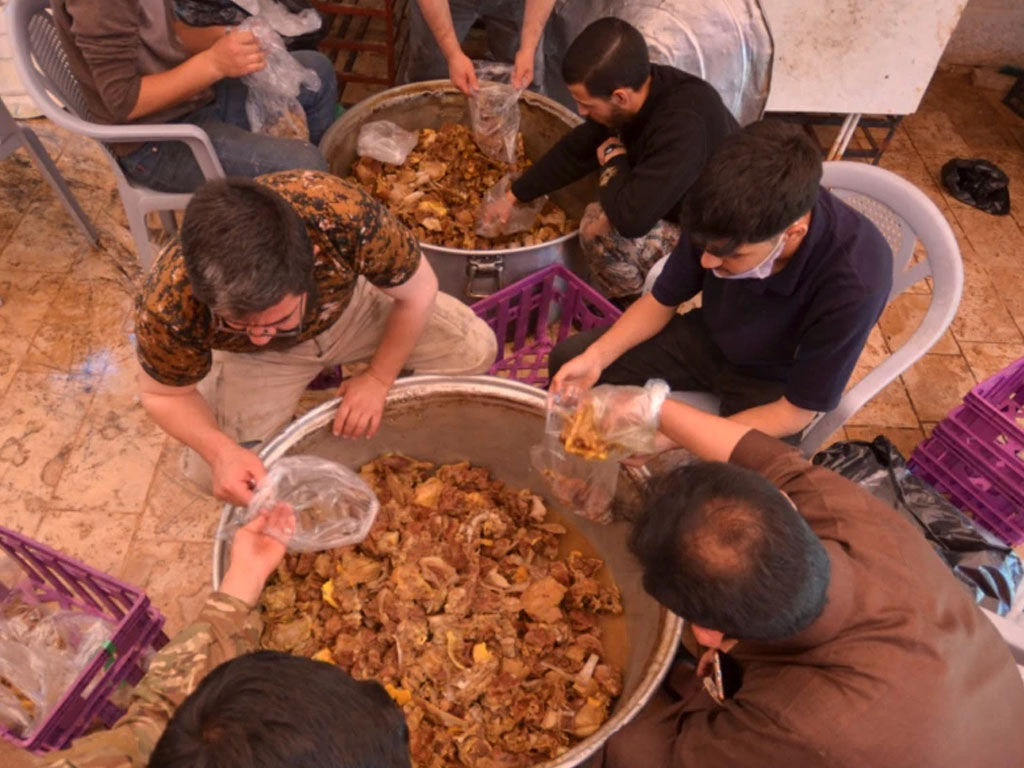
[{"label": "front large metal pot, nearest the camera", "polygon": [[[288,454],[313,454],[352,468],[387,451],[434,462],[469,460],[495,476],[528,487],[550,502],[539,473],[530,467],[529,447],[544,429],[545,393],[493,377],[418,376],[399,381],[388,395],[380,431],[370,440],[343,440],[331,434],[338,400],[310,411],[271,439],[260,452],[266,464]],[[623,473],[628,496],[638,481]],[[560,515],[556,505],[550,505]],[[221,516],[230,511],[224,508]],[[560,522],[582,532],[604,558],[623,593],[627,655],[623,694],[611,718],[544,768],[569,768],[586,760],[647,702],[669,670],[682,622],[643,591],[640,568],[630,556],[625,523],[596,525],[571,513]],[[228,547],[219,538],[213,550],[213,584],[219,586],[228,563]]]}]

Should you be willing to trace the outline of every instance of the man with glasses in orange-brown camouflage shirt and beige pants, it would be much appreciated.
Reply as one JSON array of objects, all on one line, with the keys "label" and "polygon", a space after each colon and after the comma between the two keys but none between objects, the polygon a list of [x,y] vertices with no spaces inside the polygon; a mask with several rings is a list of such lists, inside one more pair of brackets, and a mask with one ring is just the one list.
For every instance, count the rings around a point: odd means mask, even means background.
[{"label": "man with glasses in orange-brown camouflage shirt and beige pants", "polygon": [[208,181],[180,246],[158,256],[137,300],[141,402],[185,443],[185,474],[246,504],[265,474],[240,443],[287,424],[326,367],[345,379],[334,431],[371,437],[403,370],[479,374],[498,342],[438,294],[412,233],[357,186],[319,171]]}]

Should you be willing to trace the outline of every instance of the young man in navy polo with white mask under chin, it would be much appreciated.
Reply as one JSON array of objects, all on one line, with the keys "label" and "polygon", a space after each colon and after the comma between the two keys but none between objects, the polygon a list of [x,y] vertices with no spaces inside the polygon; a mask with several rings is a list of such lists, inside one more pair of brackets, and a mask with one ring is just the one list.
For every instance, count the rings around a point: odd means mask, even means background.
[{"label": "young man in navy polo with white mask under chin", "polygon": [[[729,136],[686,196],[682,229],[651,293],[609,329],[551,352],[555,392],[600,381],[706,390],[721,414],[799,435],[839,403],[889,298],[892,251],[820,186],[821,154],[796,127]],[[701,293],[702,305],[679,314]]]}]

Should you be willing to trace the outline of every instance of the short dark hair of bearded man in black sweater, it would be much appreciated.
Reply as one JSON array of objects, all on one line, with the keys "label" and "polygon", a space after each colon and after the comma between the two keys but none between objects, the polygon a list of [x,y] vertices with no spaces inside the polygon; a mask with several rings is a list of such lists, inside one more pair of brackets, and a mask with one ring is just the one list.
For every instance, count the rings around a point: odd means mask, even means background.
[{"label": "short dark hair of bearded man in black sweater", "polygon": [[577,36],[562,59],[562,79],[583,85],[598,98],[616,88],[637,90],[650,77],[647,41],[633,25],[614,16],[598,18]]}]

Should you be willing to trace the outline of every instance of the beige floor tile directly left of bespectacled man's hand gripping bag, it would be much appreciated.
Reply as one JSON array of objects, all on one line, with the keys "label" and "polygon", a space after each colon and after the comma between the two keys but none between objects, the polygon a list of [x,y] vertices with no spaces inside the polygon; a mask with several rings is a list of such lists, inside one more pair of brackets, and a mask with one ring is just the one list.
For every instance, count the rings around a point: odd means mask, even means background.
[{"label": "beige floor tile directly left of bespectacled man's hand gripping bag", "polygon": [[212,542],[221,503],[181,473],[181,443],[168,438],[157,465],[139,525],[142,539]]}]

